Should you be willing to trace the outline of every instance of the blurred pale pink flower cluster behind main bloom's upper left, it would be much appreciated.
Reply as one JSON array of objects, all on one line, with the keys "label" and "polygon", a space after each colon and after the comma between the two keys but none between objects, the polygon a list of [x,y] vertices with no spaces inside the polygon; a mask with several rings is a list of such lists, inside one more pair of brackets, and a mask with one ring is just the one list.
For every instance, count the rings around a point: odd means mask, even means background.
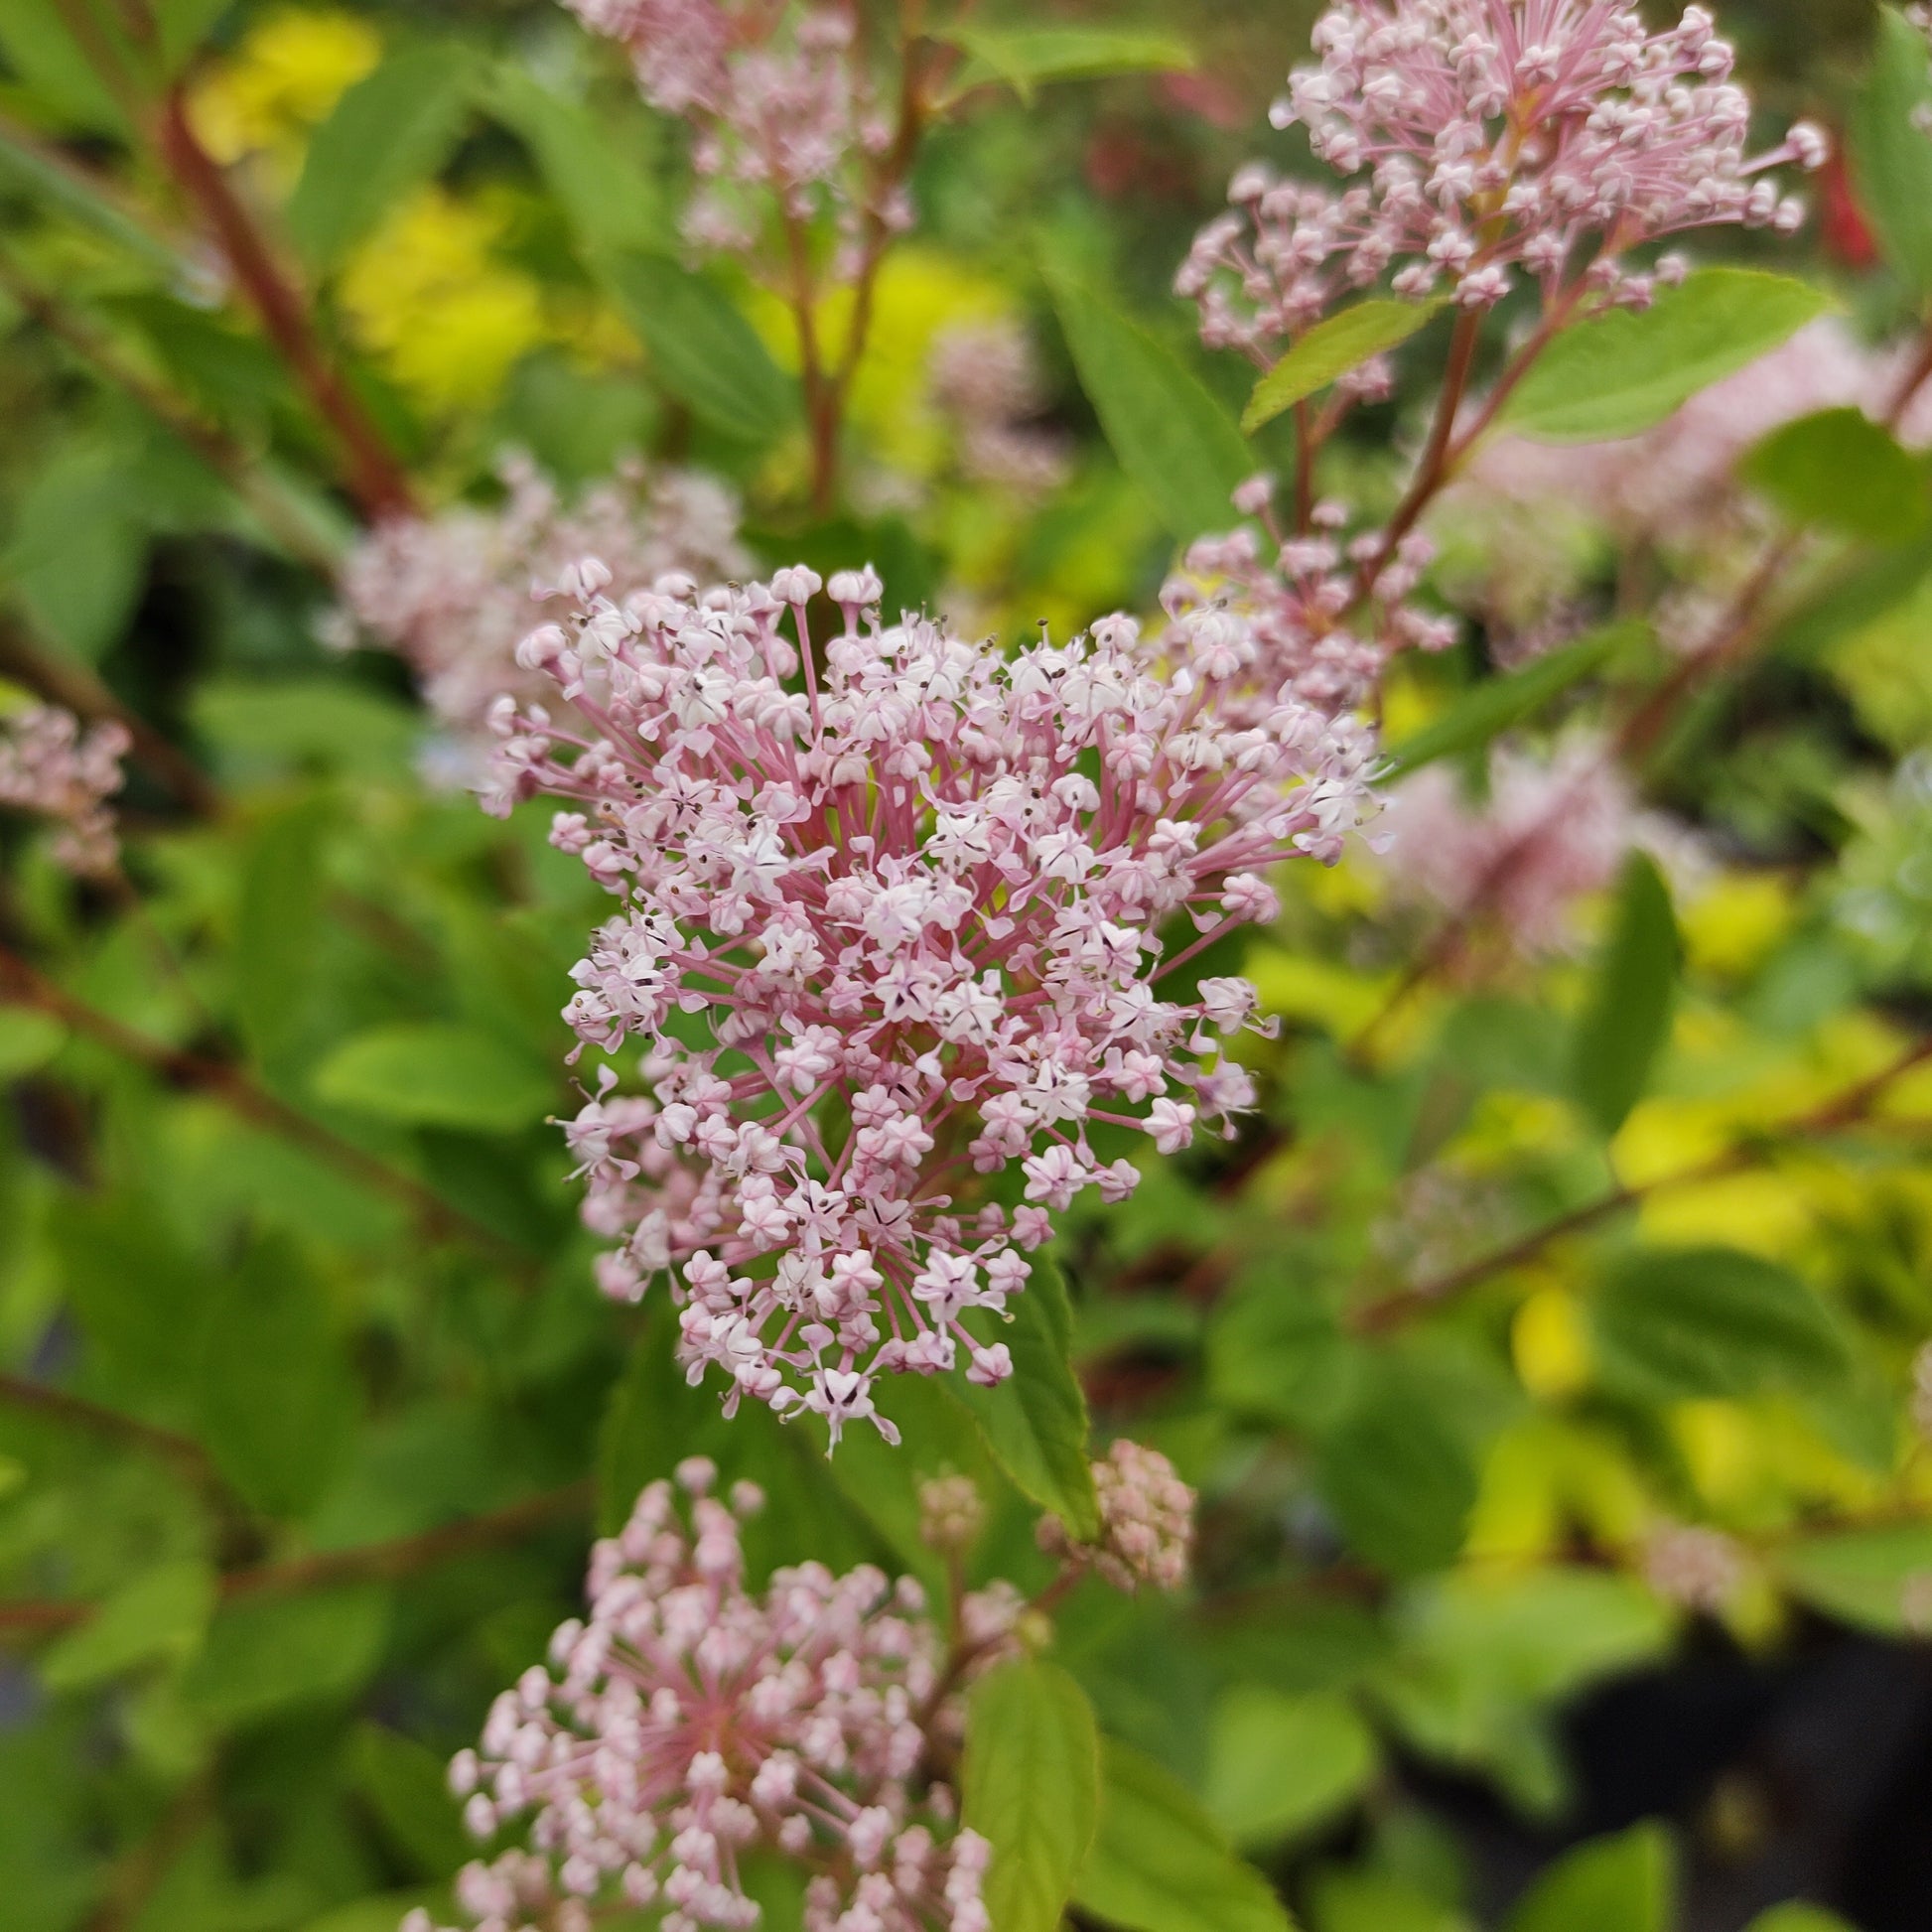
[{"label": "blurred pale pink flower cluster behind main bloom's upper left", "polygon": [[500,473],[495,510],[390,518],[363,537],[328,628],[340,647],[373,639],[408,659],[431,709],[458,732],[479,732],[502,692],[549,690],[518,667],[516,647],[539,614],[533,599],[576,558],[601,556],[620,595],[670,570],[705,580],[750,570],[738,500],[697,471],[628,464],[576,502],[526,458],[508,458]]}]

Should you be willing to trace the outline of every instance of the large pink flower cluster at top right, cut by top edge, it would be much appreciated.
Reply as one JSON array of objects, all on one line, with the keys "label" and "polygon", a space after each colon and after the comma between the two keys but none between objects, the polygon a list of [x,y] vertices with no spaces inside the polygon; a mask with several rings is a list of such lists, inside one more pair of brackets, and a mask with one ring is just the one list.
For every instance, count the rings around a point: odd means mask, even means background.
[{"label": "large pink flower cluster at top right, cut by top edge", "polygon": [[1650,299],[1627,253],[1721,222],[1789,232],[1803,205],[1768,170],[1826,158],[1801,124],[1747,158],[1750,102],[1704,8],[1650,33],[1619,0],[1339,0],[1314,29],[1277,128],[1302,124],[1335,191],[1242,168],[1180,294],[1211,346],[1262,361],[1352,290],[1445,290],[1490,307],[1528,274],[1600,301]]}]

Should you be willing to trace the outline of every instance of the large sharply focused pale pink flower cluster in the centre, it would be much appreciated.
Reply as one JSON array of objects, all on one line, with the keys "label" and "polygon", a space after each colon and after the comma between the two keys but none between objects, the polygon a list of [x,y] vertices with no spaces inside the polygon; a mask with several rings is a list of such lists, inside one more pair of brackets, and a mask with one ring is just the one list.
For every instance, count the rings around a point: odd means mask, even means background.
[{"label": "large sharply focused pale pink flower cluster in the centre", "polygon": [[[601,1283],[682,1264],[694,1379],[895,1435],[873,1376],[1003,1379],[968,1318],[1005,1316],[1051,1211],[1134,1188],[1090,1126],[1177,1153],[1252,1105],[1221,1041],[1254,989],[1159,985],[1275,914],[1271,864],[1339,854],[1374,738],[1293,697],[1231,721],[1128,618],[1009,659],[885,626],[869,570],[622,605],[605,580],[576,566],[568,626],[520,649],[597,736],[504,699],[493,800],[568,800],[554,844],[624,900],[566,1007],[585,1045],[647,1043],[651,1094],[605,1070],[568,1128],[589,1223],[626,1236]],[[1010,1215],[954,1206],[1010,1167]]]}]

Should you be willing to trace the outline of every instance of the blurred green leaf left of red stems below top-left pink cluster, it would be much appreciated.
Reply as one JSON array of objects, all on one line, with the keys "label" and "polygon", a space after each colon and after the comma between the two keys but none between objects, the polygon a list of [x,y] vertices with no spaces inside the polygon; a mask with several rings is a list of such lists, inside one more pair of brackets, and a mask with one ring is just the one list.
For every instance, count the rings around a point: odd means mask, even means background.
[{"label": "blurred green leaf left of red stems below top-left pink cluster", "polygon": [[713,429],[769,442],[798,413],[792,379],[701,274],[643,249],[601,251],[593,267],[651,352],[657,381]]}]

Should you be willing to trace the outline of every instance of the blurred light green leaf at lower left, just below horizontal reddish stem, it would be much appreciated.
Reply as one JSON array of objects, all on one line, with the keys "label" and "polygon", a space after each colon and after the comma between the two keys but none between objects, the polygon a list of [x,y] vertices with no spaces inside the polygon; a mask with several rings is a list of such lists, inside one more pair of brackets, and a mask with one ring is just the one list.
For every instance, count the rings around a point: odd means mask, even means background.
[{"label": "blurred light green leaf at lower left, just below horizontal reddish stem", "polygon": [[230,1729],[292,1704],[342,1698],[367,1681],[386,1634],[388,1592],[379,1584],[240,1596],[216,1611],[182,1696]]}]

